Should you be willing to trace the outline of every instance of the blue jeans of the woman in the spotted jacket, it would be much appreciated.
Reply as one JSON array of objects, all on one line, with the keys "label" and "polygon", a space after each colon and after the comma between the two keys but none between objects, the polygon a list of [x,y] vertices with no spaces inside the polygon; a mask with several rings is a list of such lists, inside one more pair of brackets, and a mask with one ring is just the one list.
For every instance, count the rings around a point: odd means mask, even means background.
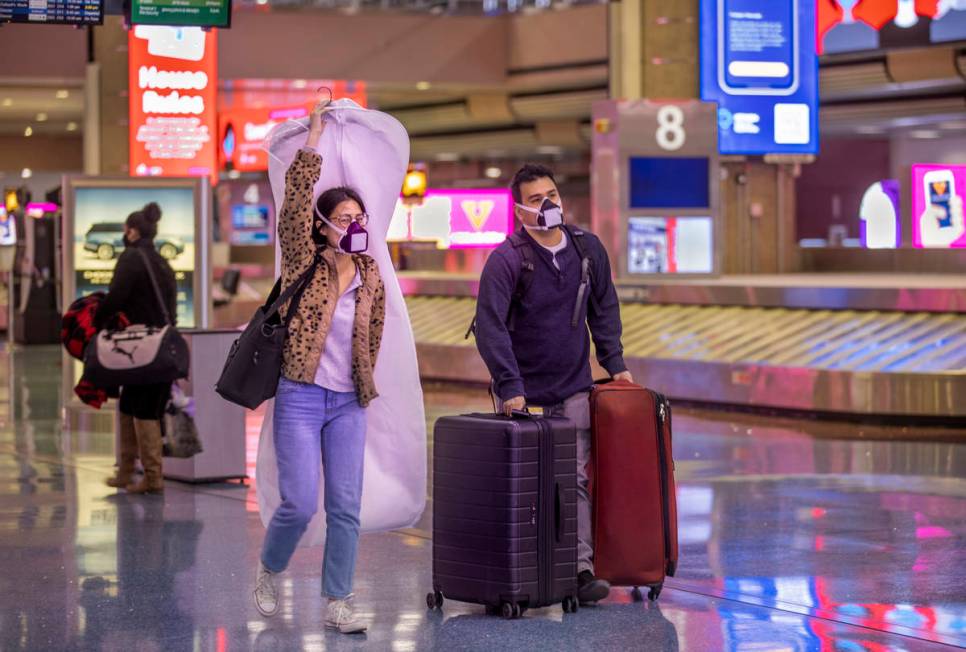
[{"label": "blue jeans of the woman in the spotted jacket", "polygon": [[366,412],[355,392],[331,392],[282,378],[275,397],[275,456],[282,504],[272,516],[262,563],[288,566],[319,502],[319,467],[325,474],[325,556],[322,592],[352,593],[359,544]]}]

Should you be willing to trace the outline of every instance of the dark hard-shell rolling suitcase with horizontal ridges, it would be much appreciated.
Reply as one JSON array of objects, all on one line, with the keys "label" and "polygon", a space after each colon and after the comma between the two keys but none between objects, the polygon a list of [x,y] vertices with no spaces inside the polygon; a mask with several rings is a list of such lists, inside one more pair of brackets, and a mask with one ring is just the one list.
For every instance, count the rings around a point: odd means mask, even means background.
[{"label": "dark hard-shell rolling suitcase with horizontal ridges", "polygon": [[443,417],[433,434],[433,592],[517,618],[577,610],[577,444],[568,419]]}]

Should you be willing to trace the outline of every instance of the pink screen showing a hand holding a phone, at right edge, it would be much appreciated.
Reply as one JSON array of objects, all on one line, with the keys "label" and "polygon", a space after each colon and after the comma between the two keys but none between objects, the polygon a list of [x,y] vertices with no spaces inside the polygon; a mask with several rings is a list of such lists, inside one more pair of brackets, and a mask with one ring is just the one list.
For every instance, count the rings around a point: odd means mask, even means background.
[{"label": "pink screen showing a hand holding a phone, at right edge", "polygon": [[912,166],[912,244],[938,249],[966,247],[963,191],[966,165]]}]

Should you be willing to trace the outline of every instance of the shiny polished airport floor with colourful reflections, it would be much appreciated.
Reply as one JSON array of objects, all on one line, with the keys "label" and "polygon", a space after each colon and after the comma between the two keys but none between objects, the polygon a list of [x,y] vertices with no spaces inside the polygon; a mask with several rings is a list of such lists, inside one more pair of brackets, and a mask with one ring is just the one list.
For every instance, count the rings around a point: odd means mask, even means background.
[{"label": "shiny polished airport floor with colourful reflections", "polygon": [[[430,424],[482,409],[428,386]],[[258,615],[250,487],[115,495],[106,428],[64,428],[56,349],[0,353],[0,650],[933,650],[966,646],[966,432],[679,410],[677,577],[655,604],[428,613],[428,517],[363,536],[363,637],[322,627],[320,549]],[[257,415],[249,449],[257,437]],[[108,423],[109,420],[101,421]],[[102,424],[103,425],[103,424]],[[253,434],[254,433],[254,434]]]}]

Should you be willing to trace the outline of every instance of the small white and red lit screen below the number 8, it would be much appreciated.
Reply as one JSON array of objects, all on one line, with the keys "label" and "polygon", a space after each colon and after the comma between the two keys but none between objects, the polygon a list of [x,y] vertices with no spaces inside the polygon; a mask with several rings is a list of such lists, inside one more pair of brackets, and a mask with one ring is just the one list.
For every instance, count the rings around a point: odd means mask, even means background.
[{"label": "small white and red lit screen below the number 8", "polygon": [[632,217],[627,223],[629,274],[710,274],[710,217]]}]

